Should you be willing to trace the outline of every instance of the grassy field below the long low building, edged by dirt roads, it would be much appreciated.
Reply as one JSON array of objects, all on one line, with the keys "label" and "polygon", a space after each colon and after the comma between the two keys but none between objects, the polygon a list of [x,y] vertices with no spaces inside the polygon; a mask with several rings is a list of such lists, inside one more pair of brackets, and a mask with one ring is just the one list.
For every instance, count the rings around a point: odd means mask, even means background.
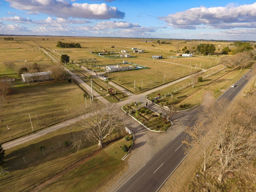
[{"label": "grassy field below the long low building, edged by dirt roads", "polygon": [[[77,110],[85,104],[80,88],[67,81],[13,87],[6,101],[0,112],[0,143],[30,134],[32,127],[29,114],[34,131],[38,131],[74,117]],[[87,102],[89,105],[89,99]]]}]

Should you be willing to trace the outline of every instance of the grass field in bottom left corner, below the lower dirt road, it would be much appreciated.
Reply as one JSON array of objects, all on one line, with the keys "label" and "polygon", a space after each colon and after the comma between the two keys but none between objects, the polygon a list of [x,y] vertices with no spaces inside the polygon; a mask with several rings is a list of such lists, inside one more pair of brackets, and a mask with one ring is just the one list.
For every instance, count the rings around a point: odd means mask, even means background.
[{"label": "grass field in bottom left corner, below the lower dirt road", "polygon": [[[79,137],[81,129],[78,125],[63,127],[44,137],[6,150],[4,168],[9,173],[1,176],[1,189],[28,191],[42,181],[47,181],[39,185],[42,187],[40,191],[50,191],[52,187],[55,191],[63,191],[63,187],[68,191],[79,191],[80,188],[83,191],[97,191],[101,184],[122,172],[126,162],[121,158],[125,153],[119,146],[129,146],[132,140],[125,142],[123,133],[114,134],[104,140],[102,144],[106,147],[102,150],[98,150],[98,145],[94,142],[88,142],[83,150],[75,152],[71,146],[64,146],[63,142],[72,141],[73,136]],[[72,130],[69,129],[70,126]],[[45,187],[55,180],[55,183]]]}]

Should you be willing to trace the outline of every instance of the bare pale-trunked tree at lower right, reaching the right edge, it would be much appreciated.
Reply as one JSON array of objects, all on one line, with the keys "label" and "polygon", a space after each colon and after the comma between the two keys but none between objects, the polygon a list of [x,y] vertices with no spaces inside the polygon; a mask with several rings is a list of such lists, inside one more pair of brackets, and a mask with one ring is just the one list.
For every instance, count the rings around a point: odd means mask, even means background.
[{"label": "bare pale-trunked tree at lower right, reaching the right edge", "polygon": [[229,172],[241,171],[241,165],[255,157],[256,134],[248,133],[244,127],[230,121],[227,127],[219,127],[216,156],[219,159],[219,177]]}]

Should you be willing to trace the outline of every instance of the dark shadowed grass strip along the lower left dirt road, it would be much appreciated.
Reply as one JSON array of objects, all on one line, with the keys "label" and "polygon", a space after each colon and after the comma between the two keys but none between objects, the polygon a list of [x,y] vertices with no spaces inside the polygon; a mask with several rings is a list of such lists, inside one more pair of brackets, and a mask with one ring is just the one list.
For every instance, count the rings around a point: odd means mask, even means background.
[{"label": "dark shadowed grass strip along the lower left dirt road", "polygon": [[[62,135],[58,135],[52,137],[50,139],[46,139],[43,141],[39,141],[36,143],[32,143],[28,146],[19,148],[18,150],[12,151],[5,156],[5,169],[8,171],[16,171],[16,170],[23,170],[27,168],[32,168],[36,166],[40,166],[40,164],[47,164],[47,166],[57,166],[56,164],[59,161],[55,161],[56,159],[61,159],[61,163],[65,163],[63,161],[70,161],[68,160],[67,156],[74,154],[76,151],[72,148],[71,142],[75,138],[78,138],[79,135],[83,135],[82,131],[79,132],[70,132]],[[102,146],[105,147],[110,143],[113,143],[119,139],[123,138],[123,135],[119,135],[116,137],[111,137],[105,139],[102,142]],[[69,146],[65,146],[65,142],[70,142]],[[66,142],[67,143],[67,142]],[[89,148],[90,147],[90,148]],[[98,150],[97,142],[87,142],[83,148],[87,148],[84,152],[84,156],[90,155]],[[77,161],[77,157],[70,156],[70,158],[74,159],[74,162]],[[82,158],[82,157],[81,157]],[[25,163],[26,162],[26,163]],[[36,168],[35,172],[40,172],[42,168]],[[36,174],[35,173],[35,174]]]}]

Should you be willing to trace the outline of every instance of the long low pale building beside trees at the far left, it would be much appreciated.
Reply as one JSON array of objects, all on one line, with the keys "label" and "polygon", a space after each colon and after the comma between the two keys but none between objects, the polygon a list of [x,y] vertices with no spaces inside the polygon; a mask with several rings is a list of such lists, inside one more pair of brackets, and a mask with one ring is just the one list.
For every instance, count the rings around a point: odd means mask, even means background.
[{"label": "long low pale building beside trees at the far left", "polygon": [[23,82],[33,81],[47,81],[51,79],[51,71],[39,72],[39,73],[25,73],[22,74]]}]

